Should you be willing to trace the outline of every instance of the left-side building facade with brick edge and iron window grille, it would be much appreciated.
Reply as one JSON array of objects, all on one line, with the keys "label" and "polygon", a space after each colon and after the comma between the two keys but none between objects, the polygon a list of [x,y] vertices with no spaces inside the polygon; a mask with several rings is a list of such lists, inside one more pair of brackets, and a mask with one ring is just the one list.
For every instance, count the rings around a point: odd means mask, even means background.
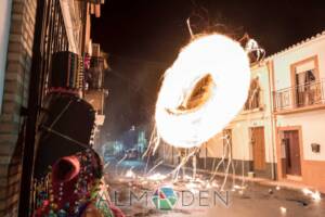
[{"label": "left-side building facade with brick edge and iron window grille", "polygon": [[[26,132],[30,126],[30,111],[40,108],[43,95],[49,91],[48,75],[52,54],[69,51],[83,55],[91,50],[90,17],[92,14],[100,16],[103,2],[0,2],[0,216],[17,216],[18,212],[22,216],[29,215],[28,194],[31,184],[29,188],[29,184],[24,183],[31,180],[31,173],[28,177],[22,174],[25,174],[25,168],[32,168],[32,156],[36,152],[26,142],[26,138],[35,137]],[[37,67],[32,67],[32,64]],[[34,84],[34,75],[42,76],[39,82]],[[34,95],[35,90],[40,93],[37,98]],[[31,98],[35,98],[35,103],[31,103]],[[24,166],[28,157],[31,164],[28,162]],[[24,192],[27,192],[27,201],[20,203]],[[27,208],[23,210],[20,204],[25,204]]]}]

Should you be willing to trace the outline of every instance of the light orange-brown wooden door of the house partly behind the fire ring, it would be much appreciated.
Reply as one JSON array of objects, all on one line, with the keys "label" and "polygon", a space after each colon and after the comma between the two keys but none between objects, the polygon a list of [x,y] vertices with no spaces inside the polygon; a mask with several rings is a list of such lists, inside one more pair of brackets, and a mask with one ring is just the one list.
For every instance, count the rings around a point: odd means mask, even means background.
[{"label": "light orange-brown wooden door of the house partly behind the fire ring", "polygon": [[265,143],[264,143],[264,127],[251,128],[251,145],[253,157],[253,169],[265,169]]}]

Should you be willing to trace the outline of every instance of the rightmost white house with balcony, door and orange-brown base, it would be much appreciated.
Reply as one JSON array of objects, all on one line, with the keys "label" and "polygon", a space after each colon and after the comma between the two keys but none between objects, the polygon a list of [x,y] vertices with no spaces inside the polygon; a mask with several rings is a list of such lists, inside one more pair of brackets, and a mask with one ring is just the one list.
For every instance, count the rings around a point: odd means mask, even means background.
[{"label": "rightmost white house with balcony, door and orange-brown base", "polygon": [[325,31],[268,61],[278,179],[325,192]]}]

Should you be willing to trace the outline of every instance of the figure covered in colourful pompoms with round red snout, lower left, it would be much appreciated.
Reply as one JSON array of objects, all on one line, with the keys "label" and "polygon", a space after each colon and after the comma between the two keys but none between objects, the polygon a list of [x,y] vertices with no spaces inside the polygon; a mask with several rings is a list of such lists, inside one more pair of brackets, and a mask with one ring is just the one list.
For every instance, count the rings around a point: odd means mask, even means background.
[{"label": "figure covered in colourful pompoms with round red snout, lower left", "polygon": [[110,203],[101,158],[93,150],[56,161],[46,189],[39,192],[35,217],[125,217]]}]

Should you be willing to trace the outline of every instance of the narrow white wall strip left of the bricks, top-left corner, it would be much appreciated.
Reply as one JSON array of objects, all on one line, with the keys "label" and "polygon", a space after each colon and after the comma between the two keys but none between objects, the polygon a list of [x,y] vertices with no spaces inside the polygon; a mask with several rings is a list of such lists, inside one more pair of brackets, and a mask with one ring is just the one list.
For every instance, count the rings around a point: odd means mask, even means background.
[{"label": "narrow white wall strip left of the bricks, top-left corner", "polygon": [[2,110],[3,84],[11,20],[12,0],[0,1],[0,113]]}]

